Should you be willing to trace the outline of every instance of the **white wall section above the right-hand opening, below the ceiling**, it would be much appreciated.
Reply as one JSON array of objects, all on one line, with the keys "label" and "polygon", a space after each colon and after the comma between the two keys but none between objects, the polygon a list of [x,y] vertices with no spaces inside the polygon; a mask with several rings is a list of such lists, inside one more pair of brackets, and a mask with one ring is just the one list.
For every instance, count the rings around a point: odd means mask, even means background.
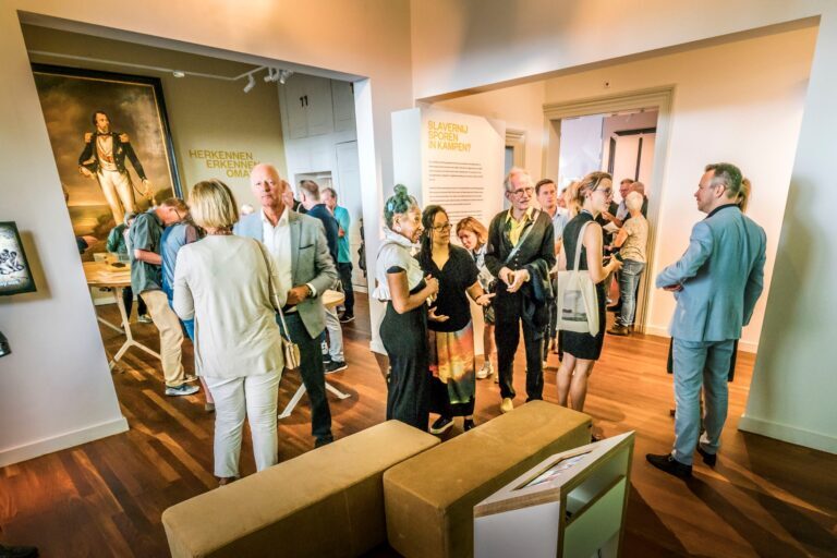
[{"label": "white wall section above the right-hand opening, below the ceiling", "polygon": [[410,4],[413,93],[417,99],[429,99],[565,72],[583,64],[816,16],[832,3],[417,0]]}]

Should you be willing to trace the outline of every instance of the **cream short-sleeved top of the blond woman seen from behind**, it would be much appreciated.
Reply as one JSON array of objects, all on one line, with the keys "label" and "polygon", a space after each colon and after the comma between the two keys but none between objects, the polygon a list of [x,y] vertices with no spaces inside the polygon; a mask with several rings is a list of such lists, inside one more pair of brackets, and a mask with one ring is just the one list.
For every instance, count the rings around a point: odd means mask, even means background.
[{"label": "cream short-sleeved top of the blond woman seen from behind", "polygon": [[213,235],[186,244],[174,268],[174,312],[195,320],[195,371],[236,378],[284,366],[276,307],[280,284],[274,258],[253,239]]}]

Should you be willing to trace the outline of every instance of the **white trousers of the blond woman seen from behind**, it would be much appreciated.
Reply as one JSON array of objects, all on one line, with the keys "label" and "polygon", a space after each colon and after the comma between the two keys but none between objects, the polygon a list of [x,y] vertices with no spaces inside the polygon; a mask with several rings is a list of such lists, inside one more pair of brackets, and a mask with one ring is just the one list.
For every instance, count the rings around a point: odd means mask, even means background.
[{"label": "white trousers of the blond woman seen from behind", "polygon": [[204,377],[215,399],[215,476],[239,476],[245,415],[253,435],[256,470],[278,462],[276,407],[280,377],[279,372],[243,378]]}]

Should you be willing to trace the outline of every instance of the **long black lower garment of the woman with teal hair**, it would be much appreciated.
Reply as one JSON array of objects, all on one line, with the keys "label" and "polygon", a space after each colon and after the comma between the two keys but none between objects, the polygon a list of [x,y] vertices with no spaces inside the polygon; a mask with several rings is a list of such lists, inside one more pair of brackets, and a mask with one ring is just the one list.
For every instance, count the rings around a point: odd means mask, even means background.
[{"label": "long black lower garment of the woman with teal hair", "polygon": [[396,418],[426,432],[433,378],[428,364],[427,307],[423,304],[399,314],[392,302],[387,302],[380,340],[390,366],[387,420]]}]

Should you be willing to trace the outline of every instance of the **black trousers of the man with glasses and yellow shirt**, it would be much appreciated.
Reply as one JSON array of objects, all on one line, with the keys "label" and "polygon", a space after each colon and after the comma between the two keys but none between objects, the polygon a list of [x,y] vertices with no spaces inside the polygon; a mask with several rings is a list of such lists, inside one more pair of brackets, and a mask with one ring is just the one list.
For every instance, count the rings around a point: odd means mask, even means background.
[{"label": "black trousers of the man with glasses and yellow shirt", "polygon": [[520,325],[523,323],[523,345],[526,350],[526,401],[544,398],[544,329],[523,322],[523,294],[499,291],[494,299],[496,325],[494,341],[497,343],[497,371],[500,379],[500,397],[514,399],[514,353],[520,343]]}]

